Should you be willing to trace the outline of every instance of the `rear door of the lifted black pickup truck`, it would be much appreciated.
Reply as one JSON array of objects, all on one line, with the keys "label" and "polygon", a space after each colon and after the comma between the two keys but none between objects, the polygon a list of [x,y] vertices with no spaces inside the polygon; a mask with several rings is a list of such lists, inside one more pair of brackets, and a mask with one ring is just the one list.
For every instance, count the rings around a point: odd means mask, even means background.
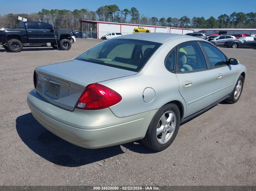
[{"label": "rear door of the lifted black pickup truck", "polygon": [[42,43],[42,30],[38,22],[26,22],[28,43]]}]

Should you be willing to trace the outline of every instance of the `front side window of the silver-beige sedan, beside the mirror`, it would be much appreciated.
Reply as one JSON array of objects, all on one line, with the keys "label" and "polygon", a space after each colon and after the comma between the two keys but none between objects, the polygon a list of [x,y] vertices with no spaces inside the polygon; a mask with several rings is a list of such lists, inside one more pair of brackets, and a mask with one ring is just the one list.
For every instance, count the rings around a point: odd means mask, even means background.
[{"label": "front side window of the silver-beige sedan, beside the mirror", "polygon": [[213,45],[208,44],[208,43],[200,42],[200,44],[203,46],[203,48],[210,60],[212,68],[221,66],[221,65],[226,65],[226,63],[227,63],[226,57],[220,50],[218,50]]}]

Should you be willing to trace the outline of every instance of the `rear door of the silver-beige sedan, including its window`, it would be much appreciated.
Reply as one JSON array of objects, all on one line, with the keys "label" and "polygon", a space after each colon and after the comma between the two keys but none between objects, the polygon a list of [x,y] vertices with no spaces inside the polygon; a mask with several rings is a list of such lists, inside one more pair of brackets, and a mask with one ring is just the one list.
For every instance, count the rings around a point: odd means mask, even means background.
[{"label": "rear door of the silver-beige sedan, including its window", "polygon": [[[178,66],[176,76],[179,92],[187,106],[186,116],[190,116],[212,103],[214,72],[207,66],[201,49],[196,42],[178,46]],[[186,117],[185,116],[185,117]]]}]

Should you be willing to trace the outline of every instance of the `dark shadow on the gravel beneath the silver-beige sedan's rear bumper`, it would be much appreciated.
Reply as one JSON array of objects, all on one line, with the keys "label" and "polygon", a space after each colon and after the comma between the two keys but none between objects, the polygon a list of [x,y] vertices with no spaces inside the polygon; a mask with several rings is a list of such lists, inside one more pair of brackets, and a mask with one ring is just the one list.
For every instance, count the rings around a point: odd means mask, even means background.
[{"label": "dark shadow on the gravel beneath the silver-beige sedan's rear bumper", "polygon": [[[124,153],[120,145],[87,149],[66,142],[41,126],[31,113],[16,119],[16,129],[28,148],[46,160],[61,166],[78,167]],[[126,143],[122,146],[137,153],[154,153],[141,141]]]}]

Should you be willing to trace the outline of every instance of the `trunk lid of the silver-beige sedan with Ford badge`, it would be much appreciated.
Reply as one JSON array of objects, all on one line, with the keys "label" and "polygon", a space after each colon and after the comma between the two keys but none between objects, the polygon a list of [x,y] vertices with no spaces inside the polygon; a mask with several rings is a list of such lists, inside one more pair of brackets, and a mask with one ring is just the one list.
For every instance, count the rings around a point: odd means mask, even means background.
[{"label": "trunk lid of the silver-beige sedan with Ford badge", "polygon": [[44,65],[35,72],[37,93],[48,102],[71,111],[89,84],[137,73],[80,60]]}]

